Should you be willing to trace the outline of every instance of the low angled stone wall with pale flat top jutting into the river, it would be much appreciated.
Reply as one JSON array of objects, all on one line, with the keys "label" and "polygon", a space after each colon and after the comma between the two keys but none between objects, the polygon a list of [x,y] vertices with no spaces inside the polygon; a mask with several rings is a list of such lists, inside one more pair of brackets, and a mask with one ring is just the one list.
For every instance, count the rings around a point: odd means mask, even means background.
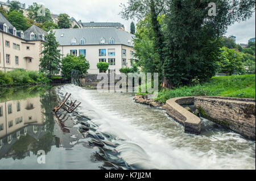
[{"label": "low angled stone wall with pale flat top jutting into the river", "polygon": [[185,132],[199,134],[201,132],[201,119],[185,110],[180,104],[193,104],[194,97],[174,98],[167,100],[162,107],[168,115],[184,125]]}]

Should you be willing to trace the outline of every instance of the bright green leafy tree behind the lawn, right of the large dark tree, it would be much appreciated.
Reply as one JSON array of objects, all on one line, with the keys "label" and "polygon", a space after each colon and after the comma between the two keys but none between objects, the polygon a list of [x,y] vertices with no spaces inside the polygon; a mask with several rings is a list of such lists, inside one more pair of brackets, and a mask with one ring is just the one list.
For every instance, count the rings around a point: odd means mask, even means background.
[{"label": "bright green leafy tree behind the lawn, right of the large dark tree", "polygon": [[241,53],[233,49],[221,48],[220,61],[218,61],[218,72],[232,75],[234,70],[237,74],[245,73]]}]

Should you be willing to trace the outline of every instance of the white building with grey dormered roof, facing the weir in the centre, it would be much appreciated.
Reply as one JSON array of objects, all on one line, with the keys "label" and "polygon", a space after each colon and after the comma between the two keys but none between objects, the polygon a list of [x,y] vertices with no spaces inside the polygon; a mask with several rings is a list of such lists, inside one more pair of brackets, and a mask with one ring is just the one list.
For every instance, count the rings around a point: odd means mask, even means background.
[{"label": "white building with grey dormered roof, facing the weir in the centre", "polygon": [[54,30],[59,50],[63,56],[80,54],[89,61],[89,74],[98,74],[98,62],[109,63],[109,73],[119,73],[121,68],[131,68],[133,39],[131,33],[117,28],[81,28]]}]

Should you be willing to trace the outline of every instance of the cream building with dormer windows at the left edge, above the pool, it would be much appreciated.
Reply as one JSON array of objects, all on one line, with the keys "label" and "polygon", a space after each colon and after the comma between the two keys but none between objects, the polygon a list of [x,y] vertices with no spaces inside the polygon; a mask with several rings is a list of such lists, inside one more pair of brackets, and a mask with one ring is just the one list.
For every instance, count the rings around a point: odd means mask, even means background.
[{"label": "cream building with dormer windows at the left edge, above the pool", "polygon": [[25,32],[0,13],[0,70],[39,70],[46,32],[33,25]]}]

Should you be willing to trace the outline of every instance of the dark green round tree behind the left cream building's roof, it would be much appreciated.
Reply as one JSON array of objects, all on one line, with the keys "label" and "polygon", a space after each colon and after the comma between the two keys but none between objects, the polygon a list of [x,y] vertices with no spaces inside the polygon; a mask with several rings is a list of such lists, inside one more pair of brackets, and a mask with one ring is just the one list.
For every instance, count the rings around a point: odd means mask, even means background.
[{"label": "dark green round tree behind the left cream building's roof", "polygon": [[9,22],[13,24],[16,30],[23,30],[26,31],[30,25],[27,23],[26,17],[20,11],[10,11],[8,18]]}]

